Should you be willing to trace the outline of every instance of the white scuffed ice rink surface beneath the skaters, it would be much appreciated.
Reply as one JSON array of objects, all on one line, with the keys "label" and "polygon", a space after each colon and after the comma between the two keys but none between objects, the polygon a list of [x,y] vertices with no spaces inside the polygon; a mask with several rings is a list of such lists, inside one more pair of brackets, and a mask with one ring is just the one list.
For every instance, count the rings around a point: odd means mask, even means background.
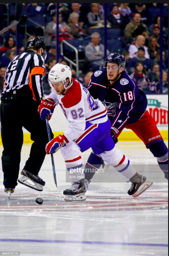
[{"label": "white scuffed ice rink surface beneath the skaters", "polygon": [[[117,147],[132,163],[156,164],[141,142],[121,142]],[[22,149],[21,171],[30,145]],[[0,146],[2,152],[2,146]],[[90,150],[83,153],[86,163]],[[86,202],[65,202],[64,160],[54,155],[58,190],[42,193],[18,185],[10,203],[0,171],[0,252],[24,256],[167,256],[168,183],[154,183],[140,197],[129,197],[127,183],[91,183]],[[164,175],[162,172],[159,175]],[[40,177],[53,183],[50,156]],[[37,205],[37,197],[43,198]]]}]

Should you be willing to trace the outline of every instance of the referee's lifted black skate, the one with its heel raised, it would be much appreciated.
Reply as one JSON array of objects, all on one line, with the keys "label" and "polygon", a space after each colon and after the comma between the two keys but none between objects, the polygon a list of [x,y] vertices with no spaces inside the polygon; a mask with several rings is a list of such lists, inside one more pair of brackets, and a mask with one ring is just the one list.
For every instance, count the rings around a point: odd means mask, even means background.
[{"label": "referee's lifted black skate, the one with its heel raised", "polygon": [[43,191],[43,186],[45,186],[45,182],[38,175],[34,175],[29,171],[25,171],[25,170],[21,172],[21,175],[22,176],[18,179],[19,183],[31,189],[35,189],[37,191]]}]

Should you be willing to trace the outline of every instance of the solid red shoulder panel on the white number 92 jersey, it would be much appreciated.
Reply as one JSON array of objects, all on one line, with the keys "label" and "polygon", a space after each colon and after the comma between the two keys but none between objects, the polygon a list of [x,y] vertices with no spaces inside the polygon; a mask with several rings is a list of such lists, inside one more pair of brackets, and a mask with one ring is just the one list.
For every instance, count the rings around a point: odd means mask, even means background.
[{"label": "solid red shoulder panel on the white number 92 jersey", "polygon": [[72,86],[67,90],[65,97],[61,99],[65,108],[72,108],[82,100],[82,91],[80,83],[76,79],[72,79]]}]

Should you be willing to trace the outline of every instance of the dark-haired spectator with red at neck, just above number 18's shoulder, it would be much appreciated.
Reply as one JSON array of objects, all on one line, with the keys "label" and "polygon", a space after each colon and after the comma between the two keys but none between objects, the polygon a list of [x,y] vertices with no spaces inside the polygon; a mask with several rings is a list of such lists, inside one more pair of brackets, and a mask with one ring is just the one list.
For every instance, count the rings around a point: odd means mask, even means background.
[{"label": "dark-haired spectator with red at neck, just above number 18's shoulder", "polygon": [[135,65],[135,71],[133,74],[131,74],[131,77],[134,81],[137,82],[137,85],[140,89],[142,89],[144,92],[149,91],[149,79],[146,74],[146,70],[144,69],[144,64],[141,62],[137,62]]}]

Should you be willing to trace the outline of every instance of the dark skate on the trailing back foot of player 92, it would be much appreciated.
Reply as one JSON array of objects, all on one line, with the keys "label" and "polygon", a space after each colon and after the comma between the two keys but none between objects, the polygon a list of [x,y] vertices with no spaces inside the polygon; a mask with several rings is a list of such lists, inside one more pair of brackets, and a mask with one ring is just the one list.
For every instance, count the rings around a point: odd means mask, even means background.
[{"label": "dark skate on the trailing back foot of player 92", "polygon": [[[153,182],[146,182],[146,177],[136,173],[132,178],[130,178],[129,182],[132,182],[132,185],[128,191],[129,196],[138,197],[145,190],[153,185]],[[140,189],[140,186],[144,186]],[[140,190],[139,190],[140,189]]]}]

